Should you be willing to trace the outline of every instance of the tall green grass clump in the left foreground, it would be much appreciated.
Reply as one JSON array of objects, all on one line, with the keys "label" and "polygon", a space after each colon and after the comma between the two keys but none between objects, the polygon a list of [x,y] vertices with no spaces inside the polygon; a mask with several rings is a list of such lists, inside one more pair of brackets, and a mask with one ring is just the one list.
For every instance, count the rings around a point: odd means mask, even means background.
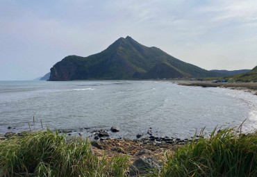
[{"label": "tall green grass clump in the left foreground", "polygon": [[124,176],[128,157],[97,158],[88,140],[67,143],[51,130],[26,133],[0,143],[4,176]]}]

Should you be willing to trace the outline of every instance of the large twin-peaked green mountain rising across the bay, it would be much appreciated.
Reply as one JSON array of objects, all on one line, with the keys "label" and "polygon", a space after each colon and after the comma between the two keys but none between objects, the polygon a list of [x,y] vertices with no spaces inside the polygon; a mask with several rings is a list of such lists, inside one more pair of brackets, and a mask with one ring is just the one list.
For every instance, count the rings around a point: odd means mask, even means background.
[{"label": "large twin-peaked green mountain rising across the bay", "polygon": [[183,62],[157,47],[145,47],[128,36],[92,56],[63,58],[51,68],[49,81],[215,76],[222,74]]}]

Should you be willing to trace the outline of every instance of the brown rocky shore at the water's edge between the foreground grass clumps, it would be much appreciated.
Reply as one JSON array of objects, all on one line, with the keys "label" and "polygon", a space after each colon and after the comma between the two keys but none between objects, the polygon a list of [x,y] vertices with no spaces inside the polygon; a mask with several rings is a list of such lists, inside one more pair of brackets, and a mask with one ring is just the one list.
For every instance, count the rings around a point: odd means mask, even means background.
[{"label": "brown rocky shore at the water's edge between the foreground grass clumps", "polygon": [[[119,128],[112,127],[110,131],[117,132]],[[86,137],[68,135],[72,133],[72,130],[59,130],[59,133],[65,132],[67,134],[66,141],[74,142],[78,139],[86,141]],[[21,133],[8,132],[4,135],[0,135],[0,143],[3,140],[8,140],[14,136],[24,136],[29,131]],[[92,153],[96,154],[99,158],[106,156],[107,158],[116,157],[117,155],[128,155],[129,158],[129,171],[128,174],[138,174],[138,171],[148,167],[149,169],[160,169],[163,160],[165,160],[165,154],[172,154],[176,148],[185,145],[187,142],[197,141],[197,137],[192,140],[180,139],[176,137],[155,137],[151,133],[151,129],[148,130],[147,136],[140,134],[136,135],[135,139],[130,138],[114,138],[110,137],[106,130],[94,130],[91,135],[91,149]]]}]

